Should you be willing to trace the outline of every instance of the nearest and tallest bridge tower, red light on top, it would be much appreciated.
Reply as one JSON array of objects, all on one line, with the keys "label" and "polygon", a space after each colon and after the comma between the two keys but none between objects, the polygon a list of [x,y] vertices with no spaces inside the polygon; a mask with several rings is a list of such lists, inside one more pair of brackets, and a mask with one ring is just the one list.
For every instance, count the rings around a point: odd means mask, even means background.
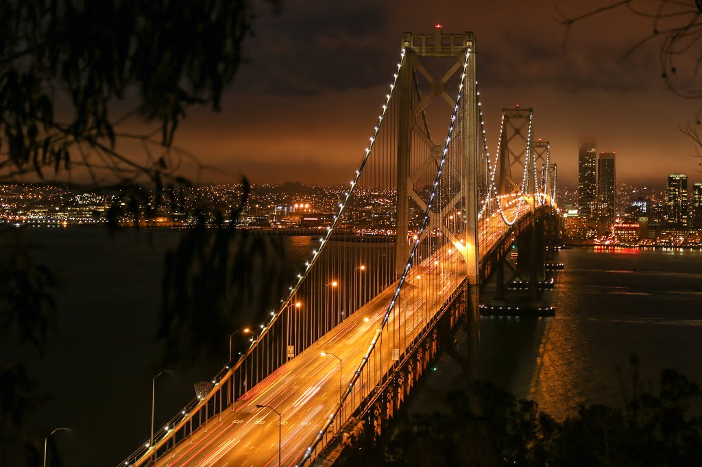
[{"label": "nearest and tallest bridge tower, red light on top", "polygon": [[[463,64],[467,49],[475,50],[475,36],[472,32],[463,34],[443,34],[441,25],[436,25],[434,34],[404,33],[402,47],[406,50],[405,65],[399,72],[397,98],[399,102],[399,119],[397,122],[397,234],[395,251],[395,273],[404,271],[406,258],[411,243],[416,240],[411,236],[413,213],[424,212],[428,200],[426,181],[434,181],[444,140],[446,123],[453,125],[450,119],[442,119],[442,114],[451,115],[458,108],[454,93],[458,83],[463,79]],[[442,182],[460,186],[450,201],[438,210],[430,211],[429,228],[423,236],[440,229],[441,233],[461,251],[465,260],[465,275],[468,276],[470,342],[471,354],[477,356],[479,287],[478,287],[478,102],[475,88],[475,60],[468,61],[465,69],[468,86],[463,90],[461,115],[457,121],[460,128],[454,129],[461,134],[464,146],[461,161],[447,165],[444,171],[451,170],[446,177],[451,182]],[[446,105],[447,104],[447,105]],[[442,109],[439,109],[442,108]],[[443,112],[442,112],[443,110]],[[431,119],[437,121],[435,128],[439,139],[435,139],[430,128]],[[430,177],[426,177],[430,174]],[[424,196],[424,198],[423,198]],[[446,224],[449,214],[460,215],[464,224],[453,229]],[[453,216],[450,216],[453,218]],[[422,238],[420,238],[420,241]],[[477,359],[475,359],[477,373]]]}]

